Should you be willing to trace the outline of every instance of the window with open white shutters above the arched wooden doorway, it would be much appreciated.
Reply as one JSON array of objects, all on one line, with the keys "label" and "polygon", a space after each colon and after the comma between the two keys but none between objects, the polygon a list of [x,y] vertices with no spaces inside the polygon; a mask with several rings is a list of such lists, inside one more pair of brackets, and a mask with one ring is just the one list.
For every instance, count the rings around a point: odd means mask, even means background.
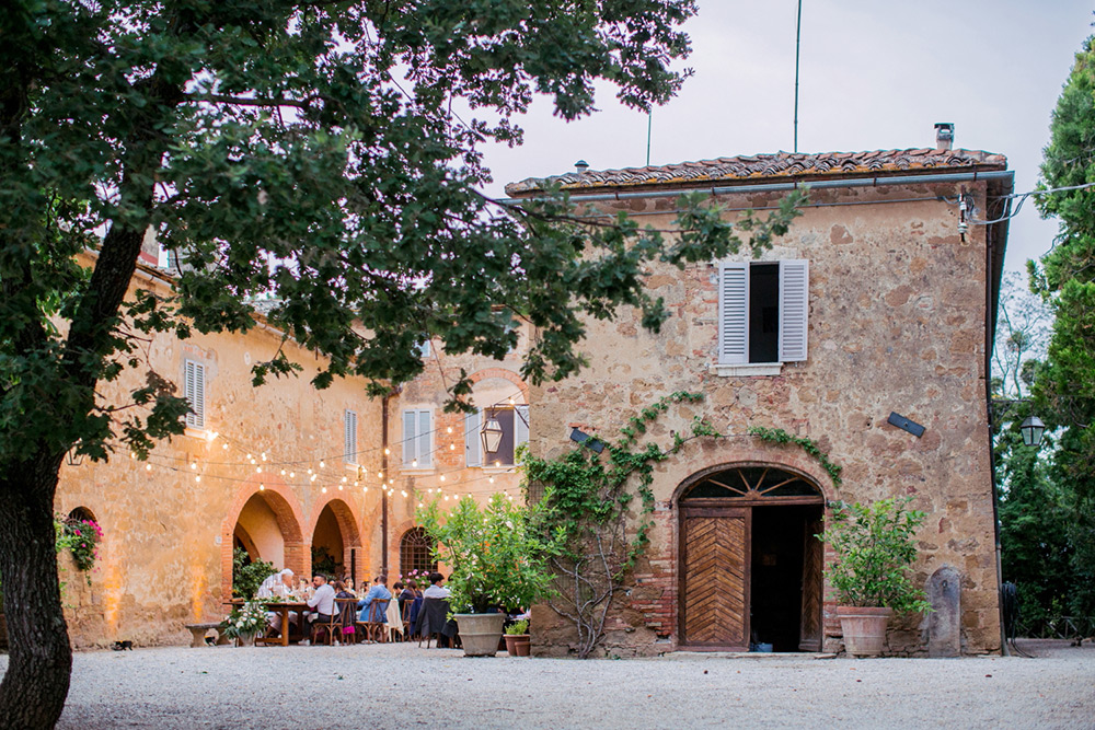
[{"label": "window with open white shutters above the arched wooden doorway", "polygon": [[809,262],[725,262],[718,267],[719,364],[806,359]]}]

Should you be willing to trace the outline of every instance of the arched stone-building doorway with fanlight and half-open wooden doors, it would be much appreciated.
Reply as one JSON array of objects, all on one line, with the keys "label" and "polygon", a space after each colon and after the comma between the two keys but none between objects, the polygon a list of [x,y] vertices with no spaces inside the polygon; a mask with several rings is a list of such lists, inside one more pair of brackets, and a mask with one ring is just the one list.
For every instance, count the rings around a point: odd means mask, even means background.
[{"label": "arched stone-building doorway with fanlight and half-open wooden doors", "polygon": [[693,476],[678,498],[682,648],[821,648],[825,498],[803,474],[746,463]]}]

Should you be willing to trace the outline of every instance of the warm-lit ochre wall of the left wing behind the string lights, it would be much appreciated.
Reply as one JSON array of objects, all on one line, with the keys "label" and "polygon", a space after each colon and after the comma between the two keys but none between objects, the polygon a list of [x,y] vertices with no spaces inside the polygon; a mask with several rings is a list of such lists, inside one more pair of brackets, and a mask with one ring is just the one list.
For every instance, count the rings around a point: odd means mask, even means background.
[{"label": "warm-lit ochre wall of the left wing behind the string lights", "polygon": [[[161,293],[168,286],[147,269],[134,282],[134,288]],[[68,514],[83,507],[104,532],[96,567],[88,576],[69,569],[70,559],[61,557],[73,646],[119,639],[146,646],[188,642],[185,624],[219,621],[227,613],[237,534],[261,559],[292,568],[298,578],[310,573],[313,544],[330,546],[347,571],[354,551],[360,583],[385,565],[393,576],[400,570],[400,538],[414,526],[416,490],[443,486],[450,499],[465,493],[485,499],[499,489],[518,495],[511,468],[464,468],[461,416],[443,414],[442,407],[460,368],[476,381],[505,382],[507,395],[516,393],[525,403],[516,374],[519,351],[503,362],[437,354],[426,372],[388,404],[391,454],[385,461],[383,402],[368,398],[360,379],[335,379],[316,391],[310,381],[320,360],[288,341],[285,352],[302,372],[252,387],[251,366],[280,346],[280,333],[264,326],[246,334],[195,333],[182,341],[158,335],[148,346],[147,367],[101,389],[107,401],[122,403],[149,369],[181,384],[184,360],[196,360],[206,366],[206,429],[160,443],[147,462],[130,459],[118,443],[108,462],[62,467],[56,511]],[[435,467],[403,473],[400,413],[420,404],[437,417]],[[343,460],[347,408],[358,417],[360,473]],[[206,438],[212,432],[216,438]],[[390,491],[387,556],[382,483]]]}]

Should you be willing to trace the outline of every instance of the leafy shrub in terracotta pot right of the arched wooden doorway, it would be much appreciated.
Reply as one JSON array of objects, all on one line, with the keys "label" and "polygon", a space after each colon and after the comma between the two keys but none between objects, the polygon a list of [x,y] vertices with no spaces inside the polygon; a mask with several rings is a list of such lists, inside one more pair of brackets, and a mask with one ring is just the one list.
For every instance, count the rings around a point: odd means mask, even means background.
[{"label": "leafy shrub in terracotta pot right of the arched wooden doorway", "polygon": [[834,503],[825,534],[818,535],[835,554],[826,577],[837,592],[844,647],[854,657],[881,653],[895,612],[932,610],[909,575],[917,559],[917,528],[925,517],[908,509],[911,500]]}]

